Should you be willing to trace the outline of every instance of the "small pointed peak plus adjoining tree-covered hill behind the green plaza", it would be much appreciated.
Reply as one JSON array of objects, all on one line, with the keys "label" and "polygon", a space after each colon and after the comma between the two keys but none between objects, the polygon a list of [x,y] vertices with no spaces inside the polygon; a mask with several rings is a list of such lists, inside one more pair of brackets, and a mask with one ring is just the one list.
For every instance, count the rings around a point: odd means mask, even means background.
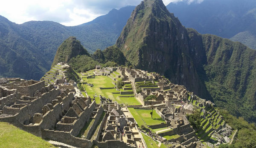
[{"label": "small pointed peak plus adjoining tree-covered hill behind the green plaza", "polygon": [[103,51],[98,49],[94,54],[89,54],[76,37],[69,37],[61,43],[52,67],[59,62],[67,62],[77,72],[89,71],[96,65],[129,65],[118,47],[110,46]]}]

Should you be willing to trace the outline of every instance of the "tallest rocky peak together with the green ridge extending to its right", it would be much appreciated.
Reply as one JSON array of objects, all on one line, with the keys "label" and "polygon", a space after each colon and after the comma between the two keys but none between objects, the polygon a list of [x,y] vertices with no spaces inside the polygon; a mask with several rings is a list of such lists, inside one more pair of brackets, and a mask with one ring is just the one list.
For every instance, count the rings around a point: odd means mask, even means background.
[{"label": "tallest rocky peak together with the green ridge extending to its right", "polygon": [[144,0],[137,6],[116,46],[135,68],[158,72],[233,115],[256,122],[256,50],[185,28],[162,0]]}]

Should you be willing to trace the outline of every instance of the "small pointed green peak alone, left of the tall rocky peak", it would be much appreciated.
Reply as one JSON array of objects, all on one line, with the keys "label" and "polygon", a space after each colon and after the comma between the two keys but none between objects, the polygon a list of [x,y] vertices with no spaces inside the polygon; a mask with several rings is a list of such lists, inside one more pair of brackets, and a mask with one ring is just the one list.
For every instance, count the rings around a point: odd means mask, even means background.
[{"label": "small pointed green peak alone, left of the tall rocky peak", "polygon": [[72,57],[76,57],[77,55],[90,56],[87,50],[81,45],[80,41],[76,40],[76,37],[69,37],[59,46],[52,67],[58,62],[69,62]]}]

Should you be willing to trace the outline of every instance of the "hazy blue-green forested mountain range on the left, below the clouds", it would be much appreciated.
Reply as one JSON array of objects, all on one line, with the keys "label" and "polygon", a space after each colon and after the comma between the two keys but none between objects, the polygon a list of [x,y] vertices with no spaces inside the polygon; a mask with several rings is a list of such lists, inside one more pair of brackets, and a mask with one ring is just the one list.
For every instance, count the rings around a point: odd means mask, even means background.
[{"label": "hazy blue-green forested mountain range on the left, below the clouds", "polygon": [[39,80],[50,69],[58,46],[77,37],[90,53],[115,44],[135,6],[108,14],[80,26],[63,26],[52,21],[12,23],[0,16],[0,77]]}]

